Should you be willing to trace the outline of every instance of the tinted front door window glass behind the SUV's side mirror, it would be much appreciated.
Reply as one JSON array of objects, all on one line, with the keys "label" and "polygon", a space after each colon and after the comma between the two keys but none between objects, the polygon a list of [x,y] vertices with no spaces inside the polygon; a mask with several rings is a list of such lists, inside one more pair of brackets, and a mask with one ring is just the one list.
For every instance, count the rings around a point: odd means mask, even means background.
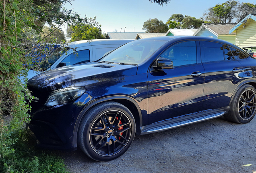
[{"label": "tinted front door window glass behind the SUV's side mirror", "polygon": [[161,57],[171,59],[173,61],[173,66],[195,64],[196,42],[188,41],[175,44],[165,50],[165,52],[161,54]]}]

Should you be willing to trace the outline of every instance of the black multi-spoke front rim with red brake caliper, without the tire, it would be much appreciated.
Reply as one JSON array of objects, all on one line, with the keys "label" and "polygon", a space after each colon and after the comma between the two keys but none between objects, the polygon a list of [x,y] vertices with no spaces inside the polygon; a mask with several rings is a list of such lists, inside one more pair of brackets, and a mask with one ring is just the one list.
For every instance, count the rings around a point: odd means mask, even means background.
[{"label": "black multi-spoke front rim with red brake caliper, without the tire", "polygon": [[123,112],[107,111],[94,121],[90,130],[90,144],[99,155],[115,155],[126,147],[131,133],[130,120]]}]

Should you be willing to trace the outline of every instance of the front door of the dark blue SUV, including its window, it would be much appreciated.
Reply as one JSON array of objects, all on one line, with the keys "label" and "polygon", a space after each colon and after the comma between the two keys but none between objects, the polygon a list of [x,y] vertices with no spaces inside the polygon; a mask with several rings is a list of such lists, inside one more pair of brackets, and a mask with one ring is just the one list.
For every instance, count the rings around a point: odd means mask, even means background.
[{"label": "front door of the dark blue SUV, including its window", "polygon": [[202,110],[204,68],[198,41],[175,44],[161,55],[173,69],[148,72],[149,124]]}]

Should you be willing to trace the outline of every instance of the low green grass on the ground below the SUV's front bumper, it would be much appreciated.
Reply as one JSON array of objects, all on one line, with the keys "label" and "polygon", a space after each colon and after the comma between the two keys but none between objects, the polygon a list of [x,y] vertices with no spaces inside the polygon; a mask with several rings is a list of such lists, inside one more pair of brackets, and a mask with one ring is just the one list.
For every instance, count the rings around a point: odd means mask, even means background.
[{"label": "low green grass on the ground below the SUV's front bumper", "polygon": [[13,141],[12,153],[0,160],[1,173],[66,173],[63,159],[50,151],[35,148],[25,129],[16,129],[9,137]]}]

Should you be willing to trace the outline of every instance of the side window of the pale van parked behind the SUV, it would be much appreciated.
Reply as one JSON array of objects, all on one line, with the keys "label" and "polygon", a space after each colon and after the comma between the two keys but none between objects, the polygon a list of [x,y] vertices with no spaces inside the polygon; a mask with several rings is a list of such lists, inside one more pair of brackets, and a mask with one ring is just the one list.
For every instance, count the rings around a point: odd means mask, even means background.
[{"label": "side window of the pale van parked behind the SUV", "polygon": [[74,53],[69,54],[62,62],[65,62],[66,65],[80,64],[84,62],[90,62],[90,51],[89,50],[80,50]]}]

